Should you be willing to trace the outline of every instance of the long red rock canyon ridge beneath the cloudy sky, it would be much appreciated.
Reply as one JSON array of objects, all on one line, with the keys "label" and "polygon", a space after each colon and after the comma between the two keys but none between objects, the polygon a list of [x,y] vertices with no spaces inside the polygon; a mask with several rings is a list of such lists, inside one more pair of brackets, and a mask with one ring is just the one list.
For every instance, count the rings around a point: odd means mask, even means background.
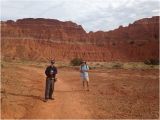
[{"label": "long red rock canyon ridge beneath the cloudy sky", "polygon": [[[106,23],[109,24],[109,23]],[[71,21],[1,21],[2,59],[144,61],[159,56],[159,16],[112,31],[89,32]]]}]

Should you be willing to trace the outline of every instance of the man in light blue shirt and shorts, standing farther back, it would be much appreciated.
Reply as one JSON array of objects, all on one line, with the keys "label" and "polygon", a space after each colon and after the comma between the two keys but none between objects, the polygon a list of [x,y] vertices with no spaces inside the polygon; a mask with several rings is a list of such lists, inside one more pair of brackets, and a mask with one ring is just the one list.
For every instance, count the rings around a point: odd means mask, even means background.
[{"label": "man in light blue shirt and shorts, standing farther back", "polygon": [[83,61],[80,66],[81,78],[83,81],[83,88],[85,89],[85,84],[87,85],[87,90],[89,91],[89,66],[86,64],[86,61]]}]

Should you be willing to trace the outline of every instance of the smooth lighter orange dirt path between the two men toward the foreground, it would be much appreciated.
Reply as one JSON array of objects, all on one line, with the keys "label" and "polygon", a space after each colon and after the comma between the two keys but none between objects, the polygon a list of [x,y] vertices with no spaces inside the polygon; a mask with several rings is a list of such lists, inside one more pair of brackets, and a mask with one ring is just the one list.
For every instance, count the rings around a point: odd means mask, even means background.
[{"label": "smooth lighter orange dirt path between the two men toward the foreground", "polygon": [[82,89],[75,89],[61,78],[55,85],[55,100],[38,102],[24,118],[86,118],[90,117],[89,111],[82,101]]}]

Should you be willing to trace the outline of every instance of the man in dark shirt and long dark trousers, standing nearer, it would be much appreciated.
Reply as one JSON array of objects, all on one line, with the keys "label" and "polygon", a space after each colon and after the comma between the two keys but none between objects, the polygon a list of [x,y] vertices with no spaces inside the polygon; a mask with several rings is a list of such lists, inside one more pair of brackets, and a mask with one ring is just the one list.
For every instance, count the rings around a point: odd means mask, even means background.
[{"label": "man in dark shirt and long dark trousers, standing nearer", "polygon": [[52,94],[54,91],[54,83],[56,82],[56,74],[57,68],[54,66],[55,60],[51,60],[51,65],[48,66],[45,70],[46,74],[46,88],[45,88],[45,100],[47,102],[48,99],[54,100],[52,98]]}]

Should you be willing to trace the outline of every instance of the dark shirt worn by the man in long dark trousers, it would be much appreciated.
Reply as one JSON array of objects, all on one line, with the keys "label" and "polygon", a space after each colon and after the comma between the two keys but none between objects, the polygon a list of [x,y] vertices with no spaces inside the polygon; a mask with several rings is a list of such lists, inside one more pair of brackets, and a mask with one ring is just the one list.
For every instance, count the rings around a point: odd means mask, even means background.
[{"label": "dark shirt worn by the man in long dark trousers", "polygon": [[45,74],[47,77],[55,78],[57,74],[57,68],[55,66],[48,66],[45,70]]}]

